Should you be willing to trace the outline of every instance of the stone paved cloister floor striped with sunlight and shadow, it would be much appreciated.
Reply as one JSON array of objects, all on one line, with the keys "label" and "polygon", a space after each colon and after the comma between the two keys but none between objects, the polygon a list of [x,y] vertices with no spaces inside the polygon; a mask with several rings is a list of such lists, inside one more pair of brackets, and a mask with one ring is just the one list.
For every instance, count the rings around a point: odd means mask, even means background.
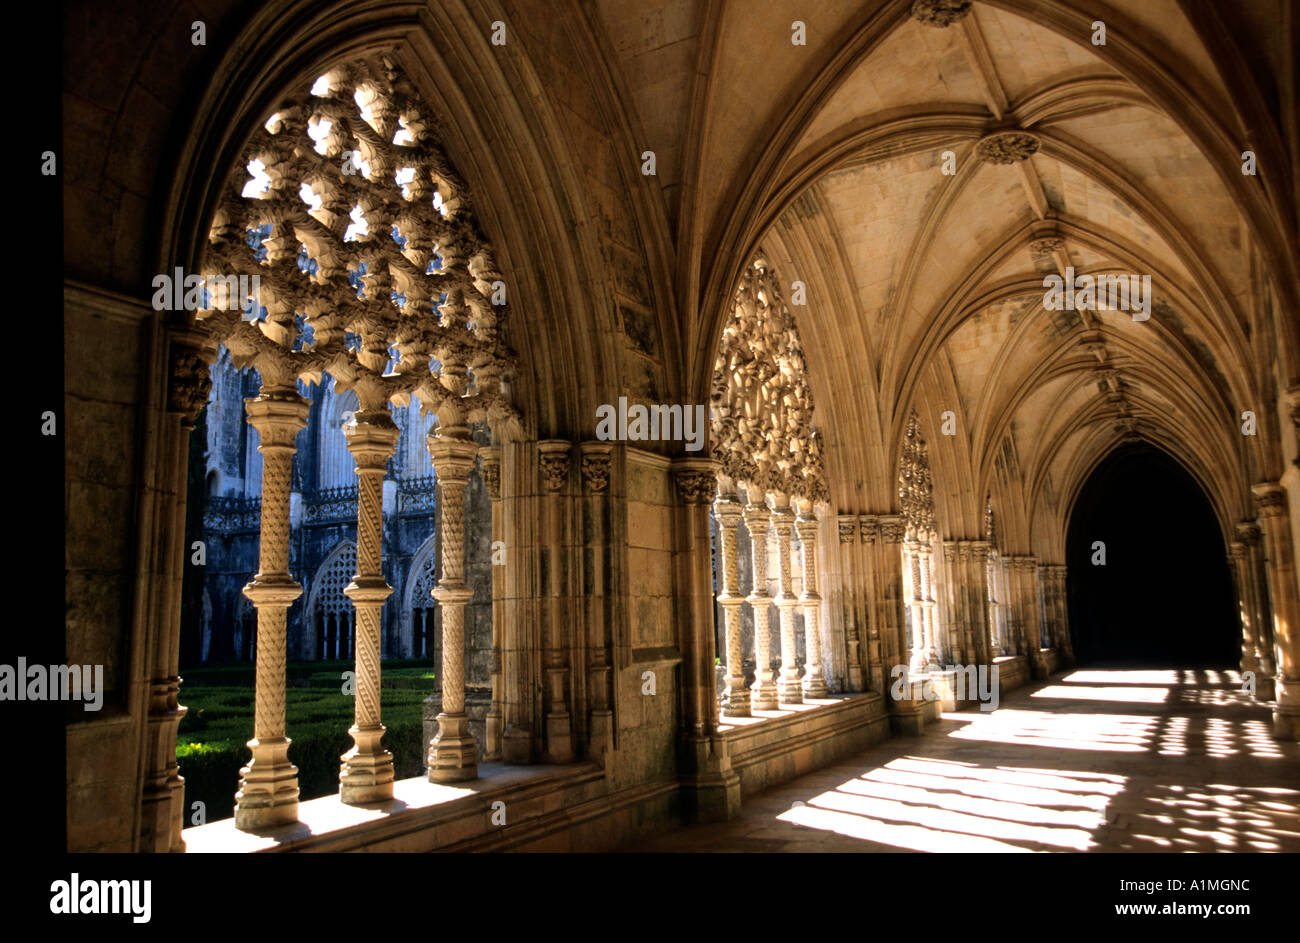
[{"label": "stone paved cloister floor striped with sunlight and shadow", "polygon": [[1300,745],[1235,671],[1078,670],[632,852],[1300,851]]}]

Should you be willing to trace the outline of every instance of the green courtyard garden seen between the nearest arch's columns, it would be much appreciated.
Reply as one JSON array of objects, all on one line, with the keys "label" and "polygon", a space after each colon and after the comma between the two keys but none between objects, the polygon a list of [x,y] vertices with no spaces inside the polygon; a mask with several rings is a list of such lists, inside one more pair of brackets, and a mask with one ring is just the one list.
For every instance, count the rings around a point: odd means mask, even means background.
[{"label": "green courtyard garden seen between the nearest arch's columns", "polygon": [[[355,710],[342,692],[342,672],[351,662],[294,662],[287,666],[285,704],[289,758],[298,766],[300,799],[338,792],[339,757],[352,745],[347,728]],[[398,779],[420,775],[424,743],[424,698],[434,691],[429,662],[391,662],[382,669],[384,745],[393,753]],[[185,825],[194,825],[194,803],[205,805],[207,821],[234,814],[239,767],[248,762],[252,739],[254,669],[247,665],[191,669],[182,672],[181,721],[176,754],[185,777]]]}]

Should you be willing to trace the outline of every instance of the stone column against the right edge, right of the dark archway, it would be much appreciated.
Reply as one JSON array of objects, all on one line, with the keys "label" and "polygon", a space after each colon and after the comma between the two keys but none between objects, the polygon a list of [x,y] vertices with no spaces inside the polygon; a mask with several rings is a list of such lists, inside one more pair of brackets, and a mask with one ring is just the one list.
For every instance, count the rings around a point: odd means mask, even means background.
[{"label": "stone column against the right edge, right of the dark archway", "polygon": [[1253,485],[1268,559],[1269,600],[1273,604],[1274,679],[1273,735],[1300,740],[1300,598],[1291,549],[1287,492],[1277,481]]}]

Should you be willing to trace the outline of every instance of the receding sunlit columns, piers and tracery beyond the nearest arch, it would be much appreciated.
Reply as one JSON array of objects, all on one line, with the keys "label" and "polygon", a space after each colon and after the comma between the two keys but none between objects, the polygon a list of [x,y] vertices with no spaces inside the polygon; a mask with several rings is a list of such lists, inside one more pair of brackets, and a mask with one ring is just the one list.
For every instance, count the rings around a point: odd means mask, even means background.
[{"label": "receding sunlit columns, piers and tracery beyond the nearest arch", "polygon": [[[718,602],[725,627],[723,717],[750,717],[823,696],[822,598],[818,588],[818,512],[828,511],[820,440],[812,429],[812,393],[794,316],[763,254],[745,271],[723,329],[712,384],[714,455],[720,463],[714,516],[719,536]],[[944,665],[991,663],[1023,656],[1045,676],[1048,650],[1071,665],[1066,567],[1036,557],[1002,557],[993,510],[984,540],[939,541],[933,483],[915,411],[898,467],[898,514],[838,515],[844,587],[844,685],[885,691],[890,669],[915,682]],[[797,516],[796,516],[797,515]],[[740,592],[738,528],[751,551],[753,589]],[[803,592],[790,580],[790,535],[802,546]],[[777,594],[767,593],[768,535],[776,545]],[[936,551],[944,579],[936,579]],[[936,593],[942,593],[942,609]],[[753,617],[753,650],[741,632],[742,606]],[[781,669],[771,666],[770,606],[780,619]],[[794,610],[805,614],[807,661],[796,662]],[[754,683],[745,684],[746,656]]]}]

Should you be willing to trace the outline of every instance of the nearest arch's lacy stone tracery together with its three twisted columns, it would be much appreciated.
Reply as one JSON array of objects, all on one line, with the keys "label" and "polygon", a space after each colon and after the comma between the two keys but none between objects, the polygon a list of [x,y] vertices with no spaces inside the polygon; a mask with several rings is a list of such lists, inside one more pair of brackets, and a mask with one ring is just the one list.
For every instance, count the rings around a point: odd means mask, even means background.
[{"label": "nearest arch's lacy stone tracery together with its three twisted columns", "polygon": [[[302,587],[289,574],[289,506],[294,441],[309,407],[296,381],[318,382],[322,371],[359,402],[344,427],[359,498],[358,568],[344,589],[356,606],[355,743],[342,758],[342,801],[393,796],[380,715],[380,615],[393,592],[381,566],[382,483],[399,436],[389,403],[407,405],[412,394],[438,416],[428,447],[441,488],[434,597],[443,663],[429,778],[476,775],[464,691],[464,609],[473,596],[464,583],[464,492],[480,453],[469,424],[486,420],[497,429],[515,416],[507,385],[514,364],[502,339],[506,308],[489,300],[500,276],[426,121],[389,62],[341,66],[286,101],[250,142],[247,159],[260,161],[265,190],[256,181],[246,186],[240,165],[214,216],[205,273],[259,274],[266,310],[264,320],[246,320],[243,299],[212,278],[216,297],[199,320],[209,359],[224,343],[237,367],[256,367],[261,377],[260,394],[247,402],[260,436],[263,494],[260,567],[244,588],[257,610],[257,658],[252,758],[235,799],[240,829],[298,818],[298,770],[285,730],[285,626]],[[354,166],[344,160],[350,151]],[[499,449],[484,451],[495,511]],[[495,675],[493,687],[499,717]]]}]

